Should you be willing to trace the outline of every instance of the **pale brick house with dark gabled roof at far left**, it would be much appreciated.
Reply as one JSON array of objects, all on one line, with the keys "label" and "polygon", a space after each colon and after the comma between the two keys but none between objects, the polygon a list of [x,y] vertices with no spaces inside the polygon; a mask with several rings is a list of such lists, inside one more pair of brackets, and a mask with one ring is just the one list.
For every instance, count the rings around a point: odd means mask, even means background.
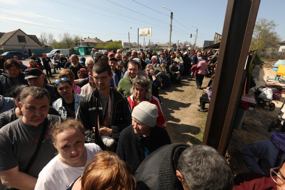
[{"label": "pale brick house with dark gabled roof at far left", "polygon": [[1,50],[42,49],[36,35],[28,35],[21,29],[11,32],[0,32]]}]

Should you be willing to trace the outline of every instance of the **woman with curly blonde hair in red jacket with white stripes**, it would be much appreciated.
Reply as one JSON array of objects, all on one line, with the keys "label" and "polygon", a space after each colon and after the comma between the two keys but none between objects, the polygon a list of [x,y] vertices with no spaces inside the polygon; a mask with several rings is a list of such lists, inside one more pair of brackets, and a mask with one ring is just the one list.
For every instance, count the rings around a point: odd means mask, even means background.
[{"label": "woman with curly blonde hair in red jacket with white stripes", "polygon": [[148,101],[158,108],[158,118],[156,125],[166,129],[165,118],[160,107],[159,99],[151,95],[151,81],[146,76],[137,75],[133,80],[133,87],[131,88],[131,96],[128,97],[129,105],[132,110],[139,105],[140,102]]}]

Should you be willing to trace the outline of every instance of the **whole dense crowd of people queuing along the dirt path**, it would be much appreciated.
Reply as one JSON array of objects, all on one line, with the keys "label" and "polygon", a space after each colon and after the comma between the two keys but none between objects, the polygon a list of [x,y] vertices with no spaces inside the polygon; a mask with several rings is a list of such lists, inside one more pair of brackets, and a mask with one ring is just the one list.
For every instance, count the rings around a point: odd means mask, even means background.
[{"label": "whole dense crowd of people queuing along the dirt path", "polygon": [[[5,60],[0,76],[2,184],[52,190],[285,186],[285,166],[272,178],[252,175],[258,179],[242,181],[246,175],[233,179],[214,148],[171,143],[159,89],[180,83],[183,75],[196,77],[200,89],[203,78],[211,76],[200,98],[198,111],[205,111],[214,82],[212,55],[92,50],[86,60],[57,55],[54,63],[44,53],[41,64],[33,53],[24,72],[16,59]],[[46,81],[53,77],[52,65],[60,69],[54,85]]]}]

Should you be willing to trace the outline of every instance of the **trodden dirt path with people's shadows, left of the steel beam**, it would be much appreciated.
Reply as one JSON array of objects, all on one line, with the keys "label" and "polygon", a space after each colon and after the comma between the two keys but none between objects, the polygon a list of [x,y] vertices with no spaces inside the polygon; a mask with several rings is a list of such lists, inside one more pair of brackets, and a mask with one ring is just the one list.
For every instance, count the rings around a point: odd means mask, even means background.
[{"label": "trodden dirt path with people's shadows, left of the steel beam", "polygon": [[[206,87],[210,78],[204,78]],[[167,132],[172,143],[201,144],[207,113],[197,111],[202,90],[196,89],[195,79],[183,76],[181,85],[172,84],[159,90]]]}]

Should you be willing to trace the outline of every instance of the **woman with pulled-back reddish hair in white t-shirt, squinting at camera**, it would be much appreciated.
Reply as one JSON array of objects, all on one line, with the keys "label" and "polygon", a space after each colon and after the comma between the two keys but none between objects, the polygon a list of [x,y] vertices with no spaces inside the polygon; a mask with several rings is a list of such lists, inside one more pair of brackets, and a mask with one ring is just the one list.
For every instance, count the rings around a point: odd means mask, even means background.
[{"label": "woman with pulled-back reddish hair in white t-shirt, squinting at camera", "polygon": [[35,189],[64,190],[83,174],[86,165],[102,150],[94,143],[84,144],[83,124],[74,119],[56,124],[50,136],[58,155],[39,173]]}]

